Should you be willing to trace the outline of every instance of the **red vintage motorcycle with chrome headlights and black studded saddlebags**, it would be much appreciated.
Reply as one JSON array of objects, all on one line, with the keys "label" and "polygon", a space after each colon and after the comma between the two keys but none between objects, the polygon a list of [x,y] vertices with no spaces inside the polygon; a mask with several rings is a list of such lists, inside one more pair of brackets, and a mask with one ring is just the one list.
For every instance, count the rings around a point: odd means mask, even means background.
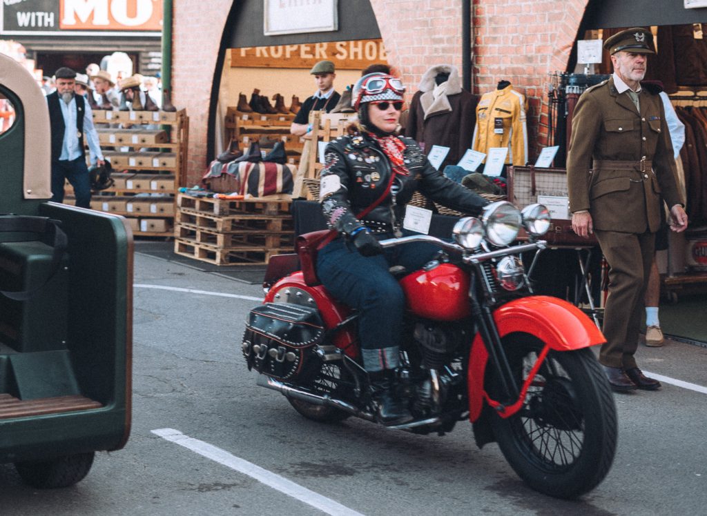
[{"label": "red vintage motorcycle with chrome headlights and black studded saddlebags", "polygon": [[[511,245],[522,228],[529,241]],[[544,206],[520,212],[499,201],[481,220],[460,219],[454,242],[430,235],[380,242],[441,248],[418,271],[392,271],[407,297],[399,396],[415,416],[392,428],[444,435],[469,420],[477,445],[498,442],[532,488],[573,498],[609,471],[617,413],[590,350],[604,342],[602,333],[574,305],[532,293],[532,266],[546,245],[537,238],[548,228]],[[299,260],[271,259],[267,295],[250,312],[243,354],[261,373],[258,385],[284,394],[306,418],[375,421],[357,314],[318,283],[308,241],[321,237],[312,235],[298,239]],[[297,262],[300,270],[292,271]]]}]

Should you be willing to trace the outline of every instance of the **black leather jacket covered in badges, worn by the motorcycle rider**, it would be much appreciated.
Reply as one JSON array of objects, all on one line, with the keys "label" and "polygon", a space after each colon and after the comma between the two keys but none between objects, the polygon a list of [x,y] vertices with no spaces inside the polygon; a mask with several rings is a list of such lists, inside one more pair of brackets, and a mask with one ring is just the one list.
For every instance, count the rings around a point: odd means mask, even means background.
[{"label": "black leather jacket covered in badges, worn by the motorcycle rider", "polygon": [[390,182],[390,160],[378,143],[366,135],[339,136],[327,145],[320,193],[329,228],[346,235],[362,225],[371,233],[399,230],[405,206],[418,189],[428,199],[469,215],[478,215],[489,204],[472,190],[438,172],[416,141],[403,136],[398,138],[406,146],[403,157],[409,175],[397,175],[386,199],[361,221],[356,214],[379,199]]}]

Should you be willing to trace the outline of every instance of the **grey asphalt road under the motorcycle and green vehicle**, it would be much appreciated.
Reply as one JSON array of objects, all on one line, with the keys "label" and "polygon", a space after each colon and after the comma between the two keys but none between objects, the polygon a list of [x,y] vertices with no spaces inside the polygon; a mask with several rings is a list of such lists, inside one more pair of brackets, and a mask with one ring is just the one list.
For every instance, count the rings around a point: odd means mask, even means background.
[{"label": "grey asphalt road under the motorcycle and green vehicle", "polygon": [[[243,321],[257,304],[247,297],[262,298],[259,286],[144,254],[135,271],[127,447],[98,454],[84,481],[59,491],[28,488],[0,465],[0,515],[705,513],[703,392],[665,384],[617,395],[609,475],[580,500],[555,500],[527,488],[496,445],[478,450],[468,424],[438,437],[353,418],[305,420],[281,394],[257,387],[240,356]],[[641,346],[638,358],[645,370],[707,386],[706,348]]]}]

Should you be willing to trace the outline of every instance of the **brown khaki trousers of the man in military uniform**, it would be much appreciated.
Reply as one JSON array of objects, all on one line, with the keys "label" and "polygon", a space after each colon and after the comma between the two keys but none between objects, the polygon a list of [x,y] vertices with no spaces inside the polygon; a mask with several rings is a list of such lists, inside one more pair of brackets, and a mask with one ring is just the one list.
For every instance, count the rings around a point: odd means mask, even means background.
[{"label": "brown khaki trousers of the man in military uniform", "polygon": [[609,264],[609,297],[602,328],[607,343],[602,346],[599,361],[612,368],[635,368],[633,355],[638,348],[655,233],[594,232]]}]

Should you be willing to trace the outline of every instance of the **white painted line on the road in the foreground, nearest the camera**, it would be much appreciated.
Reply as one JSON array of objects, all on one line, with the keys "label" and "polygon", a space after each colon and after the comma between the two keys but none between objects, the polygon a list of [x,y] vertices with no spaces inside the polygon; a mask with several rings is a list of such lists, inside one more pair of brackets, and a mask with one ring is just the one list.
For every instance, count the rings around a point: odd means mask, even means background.
[{"label": "white painted line on the road in the foreground, nearest the camera", "polygon": [[235,455],[230,454],[226,450],[221,450],[221,448],[214,445],[210,445],[208,442],[190,438],[179,430],[174,430],[173,428],[159,428],[158,430],[152,430],[152,433],[159,435],[163,439],[174,442],[177,445],[183,446],[188,450],[192,450],[192,452],[196,452],[207,459],[223,464],[230,469],[240,471],[240,473],[250,476],[264,483],[266,486],[270,486],[281,493],[285,493],[287,496],[296,498],[300,500],[300,502],[311,505],[329,515],[363,516],[360,512],[349,509],[331,498],[310,491],[308,488],[302,487],[298,483],[284,478],[284,476],[279,476],[267,469],[256,466],[252,462],[235,457]]}]

